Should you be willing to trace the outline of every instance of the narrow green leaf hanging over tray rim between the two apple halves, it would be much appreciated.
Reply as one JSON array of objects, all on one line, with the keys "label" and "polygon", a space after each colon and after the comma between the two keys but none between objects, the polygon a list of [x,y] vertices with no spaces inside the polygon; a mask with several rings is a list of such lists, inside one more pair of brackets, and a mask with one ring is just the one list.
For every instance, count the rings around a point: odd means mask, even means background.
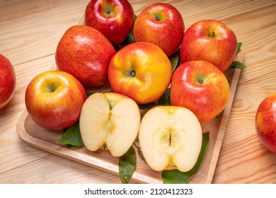
[{"label": "narrow green leaf hanging over tray rim between the two apple halves", "polygon": [[123,184],[130,182],[136,168],[136,153],[132,146],[119,159],[119,176]]}]

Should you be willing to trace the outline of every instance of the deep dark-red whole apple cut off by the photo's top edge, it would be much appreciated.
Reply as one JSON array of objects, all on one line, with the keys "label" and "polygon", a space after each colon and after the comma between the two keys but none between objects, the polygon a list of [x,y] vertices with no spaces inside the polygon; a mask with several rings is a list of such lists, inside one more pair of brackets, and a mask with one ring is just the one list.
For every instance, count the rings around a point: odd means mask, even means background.
[{"label": "deep dark-red whole apple cut off by the photo's top edge", "polygon": [[84,22],[99,30],[113,45],[122,43],[134,25],[134,10],[127,0],[91,0]]}]

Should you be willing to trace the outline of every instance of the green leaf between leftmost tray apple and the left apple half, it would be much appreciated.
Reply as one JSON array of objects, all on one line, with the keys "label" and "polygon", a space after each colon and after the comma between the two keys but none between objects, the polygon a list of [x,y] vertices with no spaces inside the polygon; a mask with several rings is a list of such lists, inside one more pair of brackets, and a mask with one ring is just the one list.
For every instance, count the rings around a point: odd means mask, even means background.
[{"label": "green leaf between leftmost tray apple and the left apple half", "polygon": [[84,142],[81,139],[79,122],[74,124],[72,127],[66,129],[62,137],[57,141],[57,143],[83,147]]}]

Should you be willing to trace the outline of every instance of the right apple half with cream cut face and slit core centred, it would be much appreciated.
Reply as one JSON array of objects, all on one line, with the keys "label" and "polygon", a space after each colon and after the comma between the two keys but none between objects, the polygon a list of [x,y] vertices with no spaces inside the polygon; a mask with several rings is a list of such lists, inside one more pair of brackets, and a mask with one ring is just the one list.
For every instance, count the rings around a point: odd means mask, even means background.
[{"label": "right apple half with cream cut face and slit core centred", "polygon": [[153,107],[142,118],[139,144],[152,169],[186,172],[200,154],[202,128],[195,114],[185,107]]}]

